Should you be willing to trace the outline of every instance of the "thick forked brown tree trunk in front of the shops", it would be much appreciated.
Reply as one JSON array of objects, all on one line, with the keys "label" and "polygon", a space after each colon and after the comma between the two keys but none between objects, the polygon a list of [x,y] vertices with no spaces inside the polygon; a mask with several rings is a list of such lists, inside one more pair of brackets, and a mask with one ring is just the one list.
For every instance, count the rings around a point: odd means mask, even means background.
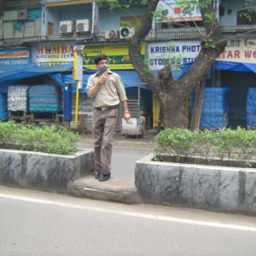
[{"label": "thick forked brown tree trunk in front of the shops", "polygon": [[[203,0],[199,0],[202,2]],[[175,81],[171,70],[163,68],[158,77],[155,77],[148,69],[148,65],[143,62],[141,57],[141,42],[148,34],[152,24],[152,12],[155,10],[158,0],[148,0],[148,9],[144,15],[144,20],[138,31],[129,42],[129,55],[131,62],[139,76],[145,83],[148,83],[150,90],[154,92],[161,102],[161,108],[164,114],[165,127],[189,127],[188,110],[189,95],[205,78],[207,70],[220,55],[226,42],[224,41],[218,20],[212,20],[212,23],[205,22],[207,35],[201,38],[201,51],[196,57],[194,64],[189,71],[183,75],[182,79]],[[212,14],[212,4],[201,9],[203,21],[206,16]],[[209,46],[209,44],[212,44]]]}]

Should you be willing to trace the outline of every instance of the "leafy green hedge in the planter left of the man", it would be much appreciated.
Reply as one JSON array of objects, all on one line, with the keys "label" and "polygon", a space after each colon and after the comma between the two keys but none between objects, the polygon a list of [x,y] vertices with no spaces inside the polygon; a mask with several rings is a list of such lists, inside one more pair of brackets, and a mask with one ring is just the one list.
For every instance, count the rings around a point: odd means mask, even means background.
[{"label": "leafy green hedge in the planter left of the man", "polygon": [[62,126],[20,125],[14,121],[0,122],[0,147],[45,152],[51,154],[73,154],[73,145],[79,135]]}]

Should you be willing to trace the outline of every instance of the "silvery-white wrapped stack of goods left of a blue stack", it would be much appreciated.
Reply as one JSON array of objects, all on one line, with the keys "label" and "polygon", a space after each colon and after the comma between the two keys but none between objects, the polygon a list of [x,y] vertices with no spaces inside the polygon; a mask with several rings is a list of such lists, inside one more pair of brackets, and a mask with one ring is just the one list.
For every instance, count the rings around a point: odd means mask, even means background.
[{"label": "silvery-white wrapped stack of goods left of a blue stack", "polygon": [[27,85],[12,85],[8,88],[8,110],[27,110]]}]

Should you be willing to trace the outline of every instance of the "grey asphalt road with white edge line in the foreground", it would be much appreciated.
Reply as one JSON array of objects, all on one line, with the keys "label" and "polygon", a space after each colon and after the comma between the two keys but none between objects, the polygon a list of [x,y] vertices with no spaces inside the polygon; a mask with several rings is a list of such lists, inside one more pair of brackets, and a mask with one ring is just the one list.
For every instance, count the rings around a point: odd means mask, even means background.
[{"label": "grey asphalt road with white edge line in the foreground", "polygon": [[256,219],[0,186],[1,256],[253,256]]}]

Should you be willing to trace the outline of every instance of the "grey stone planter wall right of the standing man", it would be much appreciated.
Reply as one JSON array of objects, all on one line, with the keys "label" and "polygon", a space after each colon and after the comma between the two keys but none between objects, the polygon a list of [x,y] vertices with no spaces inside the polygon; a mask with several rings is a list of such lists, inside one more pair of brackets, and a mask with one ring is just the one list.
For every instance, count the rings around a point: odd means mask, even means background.
[{"label": "grey stone planter wall right of the standing man", "polygon": [[147,203],[256,213],[256,169],[137,160],[138,194]]}]

